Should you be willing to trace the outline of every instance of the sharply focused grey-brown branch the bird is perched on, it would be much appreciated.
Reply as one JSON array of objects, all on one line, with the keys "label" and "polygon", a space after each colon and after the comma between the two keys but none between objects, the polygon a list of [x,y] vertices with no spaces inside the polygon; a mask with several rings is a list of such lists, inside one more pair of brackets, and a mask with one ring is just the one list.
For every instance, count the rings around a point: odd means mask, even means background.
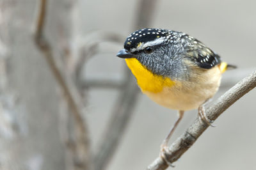
[{"label": "sharply focused grey-brown branch the bird is perched on", "polygon": [[[222,95],[214,104],[205,109],[207,117],[210,120],[216,120],[221,113],[223,113],[230,105],[234,104],[239,98],[243,97],[250,90],[256,86],[256,71],[242,81],[238,82],[235,86],[229,89],[224,95]],[[208,128],[205,123],[200,123],[196,119],[192,125],[180,135],[180,137],[170,146],[169,153],[166,153],[166,158],[170,163],[178,160],[183,153],[185,153],[198,139],[198,137]],[[156,158],[147,169],[166,169],[168,164],[162,158]]]}]

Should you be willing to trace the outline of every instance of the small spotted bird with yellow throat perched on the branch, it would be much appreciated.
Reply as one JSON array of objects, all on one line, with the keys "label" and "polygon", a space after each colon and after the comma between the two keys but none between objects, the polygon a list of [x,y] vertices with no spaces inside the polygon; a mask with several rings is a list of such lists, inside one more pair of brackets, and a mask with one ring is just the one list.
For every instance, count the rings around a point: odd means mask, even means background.
[{"label": "small spotted bird with yellow throat perched on the branch", "polygon": [[125,58],[142,93],[179,113],[161,145],[164,160],[168,141],[184,111],[198,109],[200,120],[211,125],[204,104],[218,91],[221,74],[235,67],[222,62],[216,52],[196,38],[168,29],[134,31],[116,56]]}]

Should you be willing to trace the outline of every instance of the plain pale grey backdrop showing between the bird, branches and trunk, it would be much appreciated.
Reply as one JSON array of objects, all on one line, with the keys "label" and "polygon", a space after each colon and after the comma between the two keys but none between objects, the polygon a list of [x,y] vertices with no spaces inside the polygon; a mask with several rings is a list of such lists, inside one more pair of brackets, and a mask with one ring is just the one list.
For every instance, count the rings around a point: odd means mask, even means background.
[{"label": "plain pale grey backdrop showing between the bird, branches and trunk", "polygon": [[[132,31],[137,1],[79,1],[77,31],[88,36],[97,31],[109,31],[125,37]],[[222,87],[216,97],[238,81],[236,76],[249,74],[255,68],[256,10],[255,1],[159,1],[151,27],[184,31],[218,52],[223,61],[239,70],[223,75]],[[86,63],[84,75],[122,79],[124,60],[115,54],[118,43],[100,43],[100,53]],[[243,72],[243,73],[242,73]],[[234,79],[233,79],[234,78]],[[87,121],[96,149],[117,97],[115,89],[90,89],[86,107]],[[214,97],[214,98],[216,98]],[[230,107],[189,149],[175,169],[256,169],[255,97],[253,89]],[[163,108],[140,95],[135,113],[120,141],[109,170],[145,169],[159,154],[159,146],[177,118],[176,111]],[[195,120],[196,111],[186,112],[172,137],[176,139]]]}]

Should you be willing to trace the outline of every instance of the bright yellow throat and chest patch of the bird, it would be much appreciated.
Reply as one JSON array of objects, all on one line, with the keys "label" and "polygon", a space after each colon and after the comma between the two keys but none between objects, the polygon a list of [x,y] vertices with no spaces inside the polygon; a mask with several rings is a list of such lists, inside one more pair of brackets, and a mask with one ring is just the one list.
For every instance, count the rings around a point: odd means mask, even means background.
[{"label": "bright yellow throat and chest patch of the bird", "polygon": [[137,79],[138,86],[141,91],[158,93],[163,90],[164,87],[171,87],[175,84],[170,78],[154,75],[148,71],[145,66],[141,65],[138,59],[129,58],[125,59],[127,66]]}]

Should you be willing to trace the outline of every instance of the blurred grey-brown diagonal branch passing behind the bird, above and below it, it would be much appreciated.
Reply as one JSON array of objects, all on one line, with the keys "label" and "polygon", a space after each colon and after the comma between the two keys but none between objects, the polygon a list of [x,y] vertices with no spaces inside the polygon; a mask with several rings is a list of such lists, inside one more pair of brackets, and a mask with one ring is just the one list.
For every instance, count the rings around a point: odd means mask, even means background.
[{"label": "blurred grey-brown diagonal branch passing behind the bird, above and below it", "polygon": [[[138,5],[138,18],[136,19],[134,29],[148,27],[156,9],[156,0],[141,0]],[[125,68],[125,86],[115,104],[114,111],[109,121],[106,132],[100,139],[99,150],[95,155],[95,169],[106,169],[106,165],[113,157],[115,150],[124,135],[124,130],[129,122],[132,111],[136,105],[136,99],[140,90],[133,81],[133,77],[128,68]]]}]

